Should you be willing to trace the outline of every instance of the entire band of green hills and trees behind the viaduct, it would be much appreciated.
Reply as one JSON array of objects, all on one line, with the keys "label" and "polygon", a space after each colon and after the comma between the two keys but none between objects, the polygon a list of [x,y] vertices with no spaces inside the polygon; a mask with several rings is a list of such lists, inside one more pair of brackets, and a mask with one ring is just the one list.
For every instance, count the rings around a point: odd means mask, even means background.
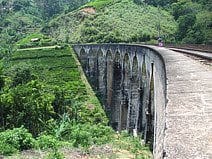
[{"label": "entire band of green hills and trees behind the viaduct", "polygon": [[161,36],[172,43],[212,44],[207,0],[0,0],[0,19],[0,59],[40,32],[67,43],[155,43]]}]

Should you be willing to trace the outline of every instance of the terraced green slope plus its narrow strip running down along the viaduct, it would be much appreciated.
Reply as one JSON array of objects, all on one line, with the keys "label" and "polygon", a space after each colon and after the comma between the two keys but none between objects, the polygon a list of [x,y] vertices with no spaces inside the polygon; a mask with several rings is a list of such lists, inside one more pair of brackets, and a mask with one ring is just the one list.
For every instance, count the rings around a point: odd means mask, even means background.
[{"label": "terraced green slope plus its narrow strip running down along the viaduct", "polygon": [[[79,64],[76,63],[76,57],[69,47],[20,49],[13,54],[11,66],[9,74],[17,68],[30,68],[31,73],[48,85],[50,91],[59,87],[66,94],[66,98],[77,98],[80,102],[89,102],[92,99],[94,103],[90,104],[97,104],[101,109],[94,94],[91,95],[92,91],[89,92],[86,80],[83,81],[81,78]],[[99,111],[106,122],[103,110]]]}]

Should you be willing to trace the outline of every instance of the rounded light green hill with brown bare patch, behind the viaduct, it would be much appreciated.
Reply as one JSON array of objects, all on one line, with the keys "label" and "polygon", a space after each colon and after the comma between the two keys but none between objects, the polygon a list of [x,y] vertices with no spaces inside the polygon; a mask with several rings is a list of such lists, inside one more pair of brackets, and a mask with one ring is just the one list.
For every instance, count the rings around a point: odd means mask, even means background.
[{"label": "rounded light green hill with brown bare patch, behind the viaduct", "polygon": [[53,19],[43,29],[48,35],[69,43],[144,42],[158,36],[171,39],[177,23],[167,11],[131,0],[88,3],[95,13],[83,9]]}]

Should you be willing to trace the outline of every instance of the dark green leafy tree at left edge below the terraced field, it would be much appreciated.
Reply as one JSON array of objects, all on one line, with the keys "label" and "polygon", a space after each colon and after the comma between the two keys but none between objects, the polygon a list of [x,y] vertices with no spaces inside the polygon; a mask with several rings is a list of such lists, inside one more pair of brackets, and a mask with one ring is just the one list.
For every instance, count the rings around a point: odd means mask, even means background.
[{"label": "dark green leafy tree at left edge below the terraced field", "polygon": [[1,126],[14,128],[24,125],[33,135],[45,130],[52,119],[54,95],[45,92],[45,86],[36,80],[5,90],[0,95]]}]

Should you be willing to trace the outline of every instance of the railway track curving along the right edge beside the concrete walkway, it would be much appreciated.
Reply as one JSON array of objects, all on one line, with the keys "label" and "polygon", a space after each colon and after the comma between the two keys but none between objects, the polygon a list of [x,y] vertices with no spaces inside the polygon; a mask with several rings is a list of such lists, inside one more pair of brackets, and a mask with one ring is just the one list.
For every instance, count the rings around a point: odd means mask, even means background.
[{"label": "railway track curving along the right edge beside the concrete walkway", "polygon": [[183,53],[186,56],[197,60],[204,65],[212,67],[212,51],[196,50],[196,49],[186,49],[186,48],[169,48],[172,51]]}]

